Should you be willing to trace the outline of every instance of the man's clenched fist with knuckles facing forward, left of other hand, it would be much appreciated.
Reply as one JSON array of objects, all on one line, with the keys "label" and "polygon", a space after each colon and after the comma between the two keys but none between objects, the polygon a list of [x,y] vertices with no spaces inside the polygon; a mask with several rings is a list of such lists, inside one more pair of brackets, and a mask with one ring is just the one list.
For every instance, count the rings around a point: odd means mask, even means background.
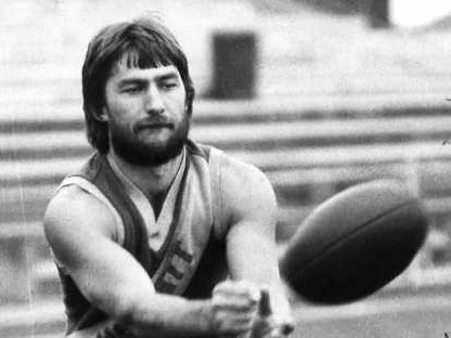
[{"label": "man's clenched fist with knuckles facing forward, left of other hand", "polygon": [[257,317],[260,290],[247,281],[226,281],[212,290],[211,327],[221,336],[246,337]]}]

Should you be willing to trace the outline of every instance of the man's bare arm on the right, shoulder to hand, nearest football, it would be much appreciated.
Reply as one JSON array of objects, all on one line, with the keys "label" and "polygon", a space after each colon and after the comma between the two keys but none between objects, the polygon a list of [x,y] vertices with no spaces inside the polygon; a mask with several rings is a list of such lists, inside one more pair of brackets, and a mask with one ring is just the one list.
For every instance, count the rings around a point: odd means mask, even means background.
[{"label": "man's bare arm on the right, shoulder to hand, nearest football", "polygon": [[224,161],[221,179],[222,205],[230,224],[227,250],[231,277],[268,290],[273,325],[289,329],[289,304],[279,274],[272,186],[261,171],[231,158]]}]

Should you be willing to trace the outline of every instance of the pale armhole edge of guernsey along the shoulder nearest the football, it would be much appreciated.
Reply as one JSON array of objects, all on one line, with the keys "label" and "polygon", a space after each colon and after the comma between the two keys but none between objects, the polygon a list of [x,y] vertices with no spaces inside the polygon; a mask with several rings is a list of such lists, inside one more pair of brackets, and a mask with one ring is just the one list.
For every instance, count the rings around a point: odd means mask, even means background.
[{"label": "pale armhole edge of guernsey along the shoulder nearest the football", "polygon": [[210,167],[210,187],[211,187],[211,205],[214,217],[214,234],[219,240],[222,240],[228,232],[228,224],[223,216],[222,209],[222,188],[221,188],[221,157],[222,152],[216,148],[210,150],[209,167]]}]

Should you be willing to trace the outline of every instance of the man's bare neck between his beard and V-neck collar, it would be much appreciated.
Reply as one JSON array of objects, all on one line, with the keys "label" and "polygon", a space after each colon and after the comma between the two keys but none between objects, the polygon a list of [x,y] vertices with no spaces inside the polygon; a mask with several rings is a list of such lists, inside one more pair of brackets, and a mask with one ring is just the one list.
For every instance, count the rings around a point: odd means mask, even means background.
[{"label": "man's bare neck between his beard and V-neck collar", "polygon": [[137,166],[130,164],[119,157],[114,150],[109,151],[108,156],[111,156],[120,171],[142,192],[156,196],[168,191],[180,167],[183,152],[159,166]]}]

